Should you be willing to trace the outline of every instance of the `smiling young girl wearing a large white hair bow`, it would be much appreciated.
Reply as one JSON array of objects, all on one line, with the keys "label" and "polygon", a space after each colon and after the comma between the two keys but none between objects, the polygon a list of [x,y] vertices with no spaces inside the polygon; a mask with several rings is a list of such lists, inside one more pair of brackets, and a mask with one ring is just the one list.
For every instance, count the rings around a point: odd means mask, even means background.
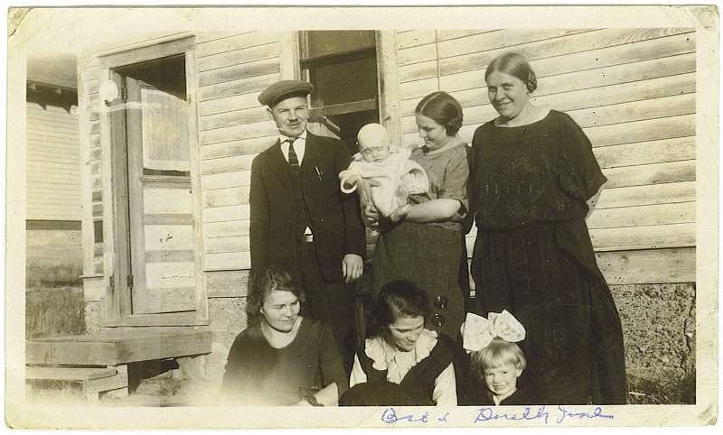
[{"label": "smiling young girl wearing a large white hair bow", "polygon": [[[486,389],[468,393],[465,404],[521,405],[532,404],[534,394],[517,385],[527,366],[516,343],[525,338],[525,328],[507,310],[491,312],[487,319],[467,313],[462,326],[465,350],[470,355],[471,374]],[[482,391],[481,391],[482,390]]]}]

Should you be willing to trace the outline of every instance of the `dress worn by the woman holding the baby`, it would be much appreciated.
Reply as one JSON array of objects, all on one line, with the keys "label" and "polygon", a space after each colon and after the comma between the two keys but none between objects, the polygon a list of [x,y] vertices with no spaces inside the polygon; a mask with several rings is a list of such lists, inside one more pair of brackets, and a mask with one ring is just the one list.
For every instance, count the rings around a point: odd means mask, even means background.
[{"label": "dress worn by the woman holding the baby", "polygon": [[467,213],[467,145],[459,143],[441,153],[427,153],[426,147],[413,151],[409,160],[427,172],[429,190],[409,195],[411,204],[433,199],[456,199],[460,209],[446,222],[402,221],[382,228],[372,256],[372,300],[385,284],[408,280],[418,284],[432,305],[425,328],[451,338],[459,336],[465,321],[465,295],[460,288],[462,221]]}]

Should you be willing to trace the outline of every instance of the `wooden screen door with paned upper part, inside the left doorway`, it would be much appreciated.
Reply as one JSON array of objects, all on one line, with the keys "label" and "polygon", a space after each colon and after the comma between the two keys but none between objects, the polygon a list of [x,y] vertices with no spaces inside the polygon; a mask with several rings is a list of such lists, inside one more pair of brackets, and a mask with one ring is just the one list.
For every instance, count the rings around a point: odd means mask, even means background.
[{"label": "wooden screen door with paned upper part, inside the left doorway", "polygon": [[196,309],[196,258],[185,87],[127,75],[132,314]]}]

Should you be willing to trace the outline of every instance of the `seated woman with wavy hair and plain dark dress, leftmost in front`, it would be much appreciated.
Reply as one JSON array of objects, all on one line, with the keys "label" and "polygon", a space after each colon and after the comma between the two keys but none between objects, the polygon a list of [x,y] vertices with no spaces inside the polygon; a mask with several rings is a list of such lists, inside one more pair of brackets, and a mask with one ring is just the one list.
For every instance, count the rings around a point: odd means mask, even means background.
[{"label": "seated woman with wavy hair and plain dark dress, leftmost in front", "polygon": [[335,405],[349,388],[332,330],[299,316],[304,294],[291,276],[268,267],[249,281],[249,328],[230,348],[224,403]]}]

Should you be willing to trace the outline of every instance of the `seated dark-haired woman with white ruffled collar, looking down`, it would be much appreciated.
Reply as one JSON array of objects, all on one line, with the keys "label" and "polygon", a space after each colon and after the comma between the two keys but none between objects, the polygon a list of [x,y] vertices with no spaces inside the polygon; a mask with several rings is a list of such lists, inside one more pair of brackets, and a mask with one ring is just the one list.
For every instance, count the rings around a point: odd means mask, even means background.
[{"label": "seated dark-haired woman with white ruffled collar, looking down", "polygon": [[383,286],[373,309],[371,338],[354,356],[352,389],[344,406],[457,403],[456,347],[452,338],[425,329],[427,295],[408,281]]}]

